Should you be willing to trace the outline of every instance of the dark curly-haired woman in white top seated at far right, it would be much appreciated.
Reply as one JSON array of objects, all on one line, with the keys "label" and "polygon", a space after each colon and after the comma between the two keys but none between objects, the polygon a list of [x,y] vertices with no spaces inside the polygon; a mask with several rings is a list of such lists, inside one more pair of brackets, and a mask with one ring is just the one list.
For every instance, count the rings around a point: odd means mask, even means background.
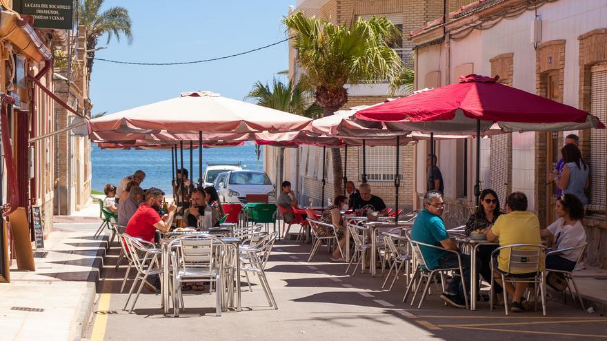
[{"label": "dark curly-haired woman in white top seated at far right", "polygon": [[[573,194],[563,194],[557,199],[556,214],[560,218],[546,229],[541,229],[542,237],[554,236],[555,249],[577,247],[586,242],[586,231],[581,225],[584,205]],[[581,249],[563,251],[546,257],[546,269],[573,271]]]}]

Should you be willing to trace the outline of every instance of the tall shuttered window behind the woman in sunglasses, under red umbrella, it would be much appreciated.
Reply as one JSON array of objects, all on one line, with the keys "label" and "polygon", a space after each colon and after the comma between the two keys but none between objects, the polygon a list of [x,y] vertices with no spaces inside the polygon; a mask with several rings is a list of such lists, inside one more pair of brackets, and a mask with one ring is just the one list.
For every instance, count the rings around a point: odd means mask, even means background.
[{"label": "tall shuttered window behind the woman in sunglasses, under red umbrella", "polygon": [[508,197],[508,158],[510,148],[508,147],[509,134],[499,134],[491,137],[491,153],[489,160],[490,182],[486,188],[491,188],[497,193],[501,208],[506,208]]}]

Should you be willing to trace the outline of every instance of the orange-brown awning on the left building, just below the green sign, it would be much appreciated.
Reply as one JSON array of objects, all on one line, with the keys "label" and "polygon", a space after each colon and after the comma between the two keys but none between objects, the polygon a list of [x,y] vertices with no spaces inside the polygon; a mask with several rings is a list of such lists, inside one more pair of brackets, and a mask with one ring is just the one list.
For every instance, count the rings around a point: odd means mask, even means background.
[{"label": "orange-brown awning on the left building, just below the green sign", "polygon": [[0,41],[12,43],[15,50],[37,63],[52,59],[50,50],[19,13],[3,10],[0,14]]}]

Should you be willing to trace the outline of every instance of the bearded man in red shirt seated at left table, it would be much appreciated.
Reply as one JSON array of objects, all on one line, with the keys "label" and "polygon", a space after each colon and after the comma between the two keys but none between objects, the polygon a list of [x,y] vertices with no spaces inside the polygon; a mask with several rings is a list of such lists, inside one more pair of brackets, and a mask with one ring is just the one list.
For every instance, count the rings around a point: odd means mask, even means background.
[{"label": "bearded man in red shirt seated at left table", "polygon": [[141,238],[148,242],[154,241],[156,230],[168,232],[175,216],[175,202],[168,207],[168,214],[159,216],[164,192],[161,189],[150,188],[146,191],[146,200],[139,205],[135,214],[128,220],[125,233],[131,237]]}]

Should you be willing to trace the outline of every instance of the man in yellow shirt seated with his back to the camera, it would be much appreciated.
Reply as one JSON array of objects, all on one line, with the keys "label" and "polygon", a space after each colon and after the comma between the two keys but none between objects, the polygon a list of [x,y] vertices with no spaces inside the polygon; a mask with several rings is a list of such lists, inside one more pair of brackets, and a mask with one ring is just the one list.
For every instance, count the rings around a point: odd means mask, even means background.
[{"label": "man in yellow shirt seated with his back to the camera", "polygon": [[[487,232],[487,240],[493,242],[499,238],[499,246],[513,244],[535,244],[541,245],[539,236],[539,220],[535,214],[527,211],[527,196],[522,192],[514,192],[508,196],[508,214],[502,214],[495,220],[495,224]],[[501,272],[508,271],[508,261],[510,259],[510,249],[499,251],[497,257],[497,269]],[[541,267],[544,267],[544,260],[541,260]],[[525,271],[510,270],[513,277],[530,277],[534,273],[525,273]],[[528,286],[526,282],[516,282],[516,287],[508,282],[504,285],[501,282],[501,276],[497,271],[493,274],[499,284],[506,289],[508,295],[513,298],[512,311],[525,311],[521,296]],[[523,299],[524,300],[524,299]]]}]

